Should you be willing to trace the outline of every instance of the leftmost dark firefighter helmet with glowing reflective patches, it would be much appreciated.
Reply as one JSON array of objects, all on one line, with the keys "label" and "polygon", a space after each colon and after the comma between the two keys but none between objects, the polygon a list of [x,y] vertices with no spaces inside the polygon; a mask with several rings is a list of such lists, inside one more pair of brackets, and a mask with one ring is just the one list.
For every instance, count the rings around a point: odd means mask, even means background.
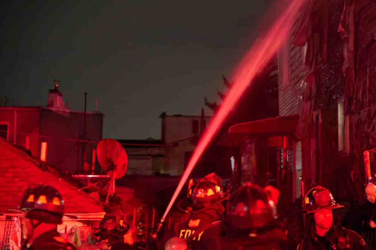
[{"label": "leftmost dark firefighter helmet with glowing reflective patches", "polygon": [[28,219],[58,225],[64,215],[64,200],[55,187],[29,186],[21,199],[20,209],[27,212]]}]

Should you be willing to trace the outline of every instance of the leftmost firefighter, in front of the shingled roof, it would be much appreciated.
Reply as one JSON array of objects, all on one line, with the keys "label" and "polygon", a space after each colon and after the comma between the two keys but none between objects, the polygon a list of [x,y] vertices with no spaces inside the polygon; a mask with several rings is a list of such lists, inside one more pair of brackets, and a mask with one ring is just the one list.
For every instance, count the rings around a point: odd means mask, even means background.
[{"label": "leftmost firefighter, in front of the shingled roof", "polygon": [[30,186],[20,204],[22,220],[22,249],[74,250],[71,243],[57,232],[62,223],[64,200],[52,186]]}]

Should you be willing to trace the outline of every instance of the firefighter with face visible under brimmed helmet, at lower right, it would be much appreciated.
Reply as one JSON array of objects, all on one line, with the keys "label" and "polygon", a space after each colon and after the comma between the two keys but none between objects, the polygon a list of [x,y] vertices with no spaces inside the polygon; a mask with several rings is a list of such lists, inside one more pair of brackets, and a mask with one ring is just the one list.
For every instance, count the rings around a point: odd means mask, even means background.
[{"label": "firefighter with face visible under brimmed helmet, at lower right", "polygon": [[332,210],[341,207],[343,206],[335,202],[328,189],[316,186],[309,190],[303,202],[303,210],[306,212],[306,235],[298,249],[367,249],[359,234],[333,222]]}]

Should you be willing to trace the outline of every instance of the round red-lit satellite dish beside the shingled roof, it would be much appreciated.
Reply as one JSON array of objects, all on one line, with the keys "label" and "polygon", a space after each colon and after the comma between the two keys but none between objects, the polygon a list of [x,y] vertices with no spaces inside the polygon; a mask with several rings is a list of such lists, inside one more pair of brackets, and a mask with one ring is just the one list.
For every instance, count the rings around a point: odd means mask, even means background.
[{"label": "round red-lit satellite dish beside the shingled roof", "polygon": [[127,153],[114,139],[103,139],[98,143],[97,157],[100,167],[111,177],[119,179],[127,171]]}]

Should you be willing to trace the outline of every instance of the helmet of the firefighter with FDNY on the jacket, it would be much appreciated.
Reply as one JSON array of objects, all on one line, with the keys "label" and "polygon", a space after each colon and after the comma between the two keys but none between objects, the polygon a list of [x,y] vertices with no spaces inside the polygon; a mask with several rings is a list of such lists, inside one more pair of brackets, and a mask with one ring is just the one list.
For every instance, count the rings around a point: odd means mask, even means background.
[{"label": "helmet of the firefighter with FDNY on the jacket", "polygon": [[227,198],[223,192],[222,180],[215,173],[201,178],[196,183],[191,179],[186,198],[177,203],[177,207],[186,213],[206,210]]}]

